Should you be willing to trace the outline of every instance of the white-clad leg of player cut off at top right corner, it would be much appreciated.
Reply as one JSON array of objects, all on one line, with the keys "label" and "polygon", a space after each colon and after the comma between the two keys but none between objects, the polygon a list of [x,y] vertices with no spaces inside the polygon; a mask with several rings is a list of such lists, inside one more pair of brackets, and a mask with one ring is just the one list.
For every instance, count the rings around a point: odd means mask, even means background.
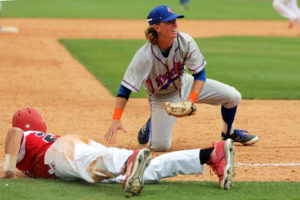
[{"label": "white-clad leg of player cut off at top right corner", "polygon": [[300,9],[297,0],[273,0],[274,9],[282,16],[289,19],[289,28],[296,23],[300,26]]}]

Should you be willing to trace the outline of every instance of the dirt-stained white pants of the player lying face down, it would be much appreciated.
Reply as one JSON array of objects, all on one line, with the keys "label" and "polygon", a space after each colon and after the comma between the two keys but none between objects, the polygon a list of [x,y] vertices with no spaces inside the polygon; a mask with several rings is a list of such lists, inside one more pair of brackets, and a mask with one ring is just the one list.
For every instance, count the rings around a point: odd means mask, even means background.
[{"label": "dirt-stained white pants of the player lying face down", "polygon": [[[105,147],[83,136],[60,137],[48,149],[45,164],[50,173],[67,180],[82,179],[90,183],[123,182],[121,169],[132,150]],[[144,174],[145,183],[158,182],[177,174],[202,174],[200,150],[183,150],[166,153],[151,160]],[[120,175],[120,176],[119,176]]]}]

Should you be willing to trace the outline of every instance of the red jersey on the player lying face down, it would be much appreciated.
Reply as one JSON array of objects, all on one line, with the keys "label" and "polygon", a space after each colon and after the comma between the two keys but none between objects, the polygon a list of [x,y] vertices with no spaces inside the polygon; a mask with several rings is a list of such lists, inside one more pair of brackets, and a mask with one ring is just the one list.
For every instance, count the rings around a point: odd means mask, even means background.
[{"label": "red jersey on the player lying face down", "polygon": [[17,158],[17,168],[34,178],[51,178],[49,166],[44,164],[45,153],[59,136],[38,131],[24,132]]}]

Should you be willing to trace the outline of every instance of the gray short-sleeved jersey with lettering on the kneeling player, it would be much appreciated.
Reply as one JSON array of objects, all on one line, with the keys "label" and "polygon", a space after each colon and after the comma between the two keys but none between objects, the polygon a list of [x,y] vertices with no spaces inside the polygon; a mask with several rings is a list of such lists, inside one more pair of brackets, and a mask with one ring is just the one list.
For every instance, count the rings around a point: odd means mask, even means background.
[{"label": "gray short-sleeved jersey with lettering on the kneeling player", "polygon": [[168,94],[181,88],[185,67],[197,74],[205,65],[194,39],[178,32],[166,58],[157,45],[149,42],[143,45],[134,55],[121,84],[133,92],[138,92],[143,84],[148,93]]}]

